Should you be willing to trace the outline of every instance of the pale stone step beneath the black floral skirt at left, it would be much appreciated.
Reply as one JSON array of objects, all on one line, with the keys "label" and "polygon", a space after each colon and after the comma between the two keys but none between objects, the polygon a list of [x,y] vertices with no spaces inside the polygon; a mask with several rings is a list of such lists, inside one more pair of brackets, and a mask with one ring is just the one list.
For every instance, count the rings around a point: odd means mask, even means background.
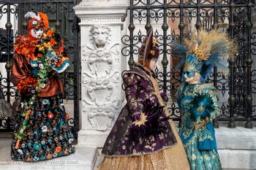
[{"label": "pale stone step beneath the black floral skirt at left", "polygon": [[75,145],[75,153],[49,161],[26,163],[12,161],[10,156],[11,139],[0,139],[0,170],[91,170],[95,149]]}]

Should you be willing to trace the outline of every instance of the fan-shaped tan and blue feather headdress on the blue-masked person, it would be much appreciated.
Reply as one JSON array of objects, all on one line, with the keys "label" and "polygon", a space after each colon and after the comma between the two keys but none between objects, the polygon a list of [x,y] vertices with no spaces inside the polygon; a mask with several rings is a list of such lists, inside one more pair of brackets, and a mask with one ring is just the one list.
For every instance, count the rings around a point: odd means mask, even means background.
[{"label": "fan-shaped tan and blue feather headdress on the blue-masked person", "polygon": [[173,42],[173,53],[181,55],[176,68],[184,67],[184,71],[200,73],[204,82],[214,66],[221,69],[223,75],[228,75],[224,59],[234,57],[236,46],[225,32],[200,30],[197,35],[192,34],[190,39],[184,39],[184,45]]}]

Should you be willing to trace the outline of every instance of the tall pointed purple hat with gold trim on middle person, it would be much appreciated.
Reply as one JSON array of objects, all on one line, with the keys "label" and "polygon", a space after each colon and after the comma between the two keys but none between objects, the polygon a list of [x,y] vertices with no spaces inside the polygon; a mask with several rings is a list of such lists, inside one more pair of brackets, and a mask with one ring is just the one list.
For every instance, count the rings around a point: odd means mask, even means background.
[{"label": "tall pointed purple hat with gold trim on middle person", "polygon": [[153,28],[148,31],[146,38],[139,50],[138,63],[143,66],[150,59],[159,58],[159,47],[157,45],[157,39],[153,37]]}]

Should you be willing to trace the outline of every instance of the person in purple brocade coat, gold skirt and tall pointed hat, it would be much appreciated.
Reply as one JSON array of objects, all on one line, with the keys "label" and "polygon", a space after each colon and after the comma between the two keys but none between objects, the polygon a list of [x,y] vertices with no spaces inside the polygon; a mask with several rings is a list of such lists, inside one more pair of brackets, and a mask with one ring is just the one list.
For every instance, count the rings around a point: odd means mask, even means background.
[{"label": "person in purple brocade coat, gold skirt and tall pointed hat", "polygon": [[99,170],[184,170],[187,155],[159,92],[154,69],[159,47],[148,31],[139,60],[122,74],[127,104],[121,110],[102,149]]}]

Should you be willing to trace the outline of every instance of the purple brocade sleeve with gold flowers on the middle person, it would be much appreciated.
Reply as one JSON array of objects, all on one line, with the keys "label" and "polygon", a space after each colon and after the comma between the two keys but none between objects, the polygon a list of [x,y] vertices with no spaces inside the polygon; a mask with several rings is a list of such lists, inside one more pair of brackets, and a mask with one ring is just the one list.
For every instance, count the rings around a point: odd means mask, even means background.
[{"label": "purple brocade sleeve with gold flowers on the middle person", "polygon": [[140,114],[142,111],[142,104],[138,101],[138,86],[140,84],[140,77],[136,74],[125,73],[123,74],[124,91],[127,98],[127,105],[133,115]]}]

